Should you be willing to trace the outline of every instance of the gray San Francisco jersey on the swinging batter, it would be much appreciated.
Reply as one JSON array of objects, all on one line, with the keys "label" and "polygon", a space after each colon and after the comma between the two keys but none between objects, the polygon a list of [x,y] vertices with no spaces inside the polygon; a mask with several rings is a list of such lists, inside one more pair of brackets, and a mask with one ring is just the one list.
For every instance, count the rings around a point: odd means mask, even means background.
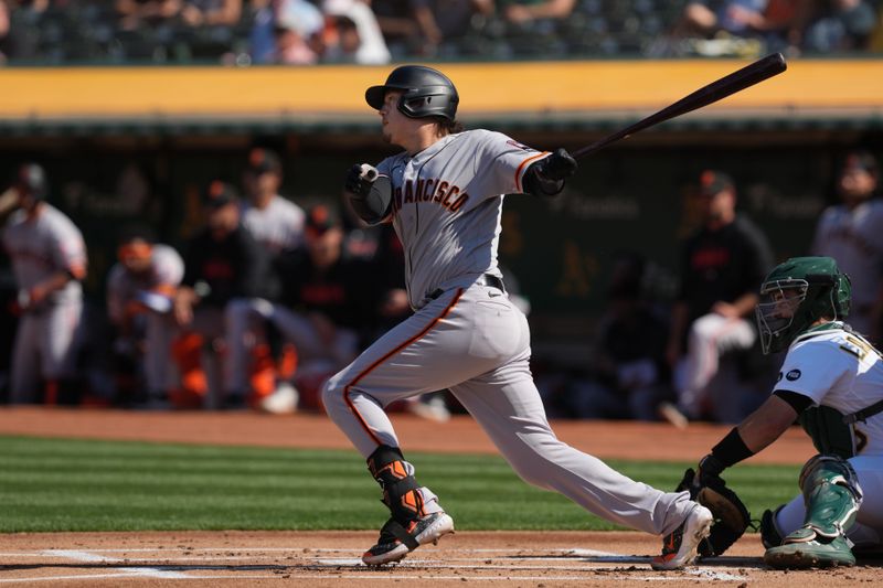
[{"label": "gray San Francisco jersey on the swinging batter", "polygon": [[449,135],[411,158],[383,160],[377,172],[393,185],[393,226],[405,249],[411,306],[434,290],[482,274],[500,277],[497,247],[503,194],[521,191],[528,165],[545,157],[506,135]]}]

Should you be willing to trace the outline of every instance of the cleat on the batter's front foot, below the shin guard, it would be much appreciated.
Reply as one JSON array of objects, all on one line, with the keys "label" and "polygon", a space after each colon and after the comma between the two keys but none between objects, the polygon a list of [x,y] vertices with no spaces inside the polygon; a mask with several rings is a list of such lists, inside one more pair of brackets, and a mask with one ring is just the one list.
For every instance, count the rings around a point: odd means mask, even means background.
[{"label": "cleat on the batter's front foot, below the shin guard", "polygon": [[380,530],[377,544],[362,555],[368,566],[394,564],[427,543],[438,543],[443,535],[454,533],[454,518],[447,513],[427,514],[402,525],[390,518]]}]

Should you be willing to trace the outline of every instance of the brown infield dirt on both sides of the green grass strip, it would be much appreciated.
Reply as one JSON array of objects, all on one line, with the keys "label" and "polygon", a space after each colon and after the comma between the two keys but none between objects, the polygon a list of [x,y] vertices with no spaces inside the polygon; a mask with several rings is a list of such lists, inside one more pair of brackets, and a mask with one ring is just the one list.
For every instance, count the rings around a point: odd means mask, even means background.
[{"label": "brown infield dirt on both sides of the green grass strip", "polygon": [[[408,415],[393,419],[405,450],[493,452],[468,417],[447,424]],[[730,427],[553,423],[568,443],[599,458],[691,461]],[[130,413],[6,408],[0,434],[266,447],[349,448],[322,415],[273,417],[222,413]],[[664,439],[664,443],[660,442]],[[755,462],[801,463],[808,439],[790,430]],[[396,566],[360,562],[376,532],[21,533],[0,535],[0,584],[23,586],[480,586],[586,587],[721,584],[853,586],[883,584],[879,562],[854,568],[766,568],[756,534],[726,556],[683,571],[650,569],[658,537],[637,532],[457,532],[413,552]]]}]

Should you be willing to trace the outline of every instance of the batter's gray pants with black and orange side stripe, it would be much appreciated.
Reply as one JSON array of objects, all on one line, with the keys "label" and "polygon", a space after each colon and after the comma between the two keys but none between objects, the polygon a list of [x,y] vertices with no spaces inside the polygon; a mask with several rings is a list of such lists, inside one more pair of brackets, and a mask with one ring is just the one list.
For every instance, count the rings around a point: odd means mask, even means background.
[{"label": "batter's gray pants with black and orange side stripe", "polygon": [[680,525],[687,492],[661,492],[560,441],[529,366],[528,320],[500,290],[455,288],[392,329],[326,384],[331,419],[368,458],[398,447],[389,404],[449,388],[521,478],[608,521],[653,534]]}]

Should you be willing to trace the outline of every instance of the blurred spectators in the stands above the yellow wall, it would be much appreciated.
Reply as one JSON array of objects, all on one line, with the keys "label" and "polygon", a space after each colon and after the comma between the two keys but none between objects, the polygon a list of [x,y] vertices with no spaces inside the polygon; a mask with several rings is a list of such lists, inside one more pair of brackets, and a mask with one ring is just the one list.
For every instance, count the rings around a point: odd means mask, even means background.
[{"label": "blurred spectators in the stands above the yellow wall", "polygon": [[9,63],[380,64],[883,49],[881,0],[0,0]]}]

